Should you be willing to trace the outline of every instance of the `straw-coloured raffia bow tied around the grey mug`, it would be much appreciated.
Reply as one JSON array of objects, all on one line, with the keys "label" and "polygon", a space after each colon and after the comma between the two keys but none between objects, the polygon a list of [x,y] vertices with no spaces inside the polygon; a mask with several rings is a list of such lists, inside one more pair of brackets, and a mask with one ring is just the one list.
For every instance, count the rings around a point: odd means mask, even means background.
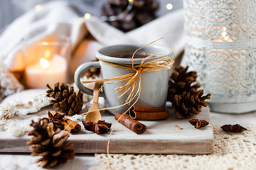
[{"label": "straw-coloured raffia bow tied around the grey mug", "polygon": [[[138,50],[140,50],[142,48],[143,47],[140,47]],[[104,64],[108,64],[112,67],[119,67],[119,68],[123,68],[123,69],[127,69],[127,70],[133,70],[134,72],[124,74],[124,75],[119,76],[119,77],[109,78],[109,79],[96,79],[96,80],[93,80],[93,81],[82,81],[82,84],[117,80],[117,81],[114,81],[112,83],[107,83],[107,84],[115,84],[115,83],[119,83],[119,82],[122,82],[122,81],[127,81],[127,84],[124,84],[124,86],[117,86],[115,88],[115,90],[116,90],[115,93],[120,93],[118,95],[118,98],[121,98],[122,96],[124,96],[124,94],[127,94],[127,92],[130,91],[129,95],[127,96],[127,98],[125,100],[125,103],[122,104],[121,106],[114,106],[114,107],[111,107],[111,108],[102,108],[102,109],[100,109],[101,111],[112,109],[112,108],[119,108],[119,107],[122,107],[124,105],[130,104],[134,100],[134,98],[136,96],[138,96],[137,100],[134,101],[134,103],[132,104],[132,106],[134,106],[134,104],[139,99],[139,95],[140,95],[140,91],[141,91],[141,75],[143,73],[147,73],[147,72],[159,72],[163,69],[171,69],[171,67],[174,64],[174,60],[171,59],[171,57],[169,57],[168,55],[164,55],[166,57],[163,57],[163,58],[160,58],[160,59],[157,59],[157,60],[153,60],[151,62],[145,62],[147,59],[149,59],[151,57],[154,57],[156,55],[163,55],[163,54],[160,54],[160,53],[156,53],[156,54],[152,54],[152,55],[149,55],[149,56],[145,57],[142,60],[142,62],[140,62],[140,64],[134,66],[134,55],[136,54],[136,52],[138,50],[136,50],[134,52],[134,54],[132,55],[132,66],[129,65],[129,64],[115,64],[115,63],[112,63],[112,62],[105,62],[105,61],[100,60],[100,62],[102,62]],[[106,86],[107,84],[105,84],[104,86]],[[137,84],[139,84],[139,88],[138,88],[137,92],[135,93]],[[100,92],[100,90],[98,92]]]}]

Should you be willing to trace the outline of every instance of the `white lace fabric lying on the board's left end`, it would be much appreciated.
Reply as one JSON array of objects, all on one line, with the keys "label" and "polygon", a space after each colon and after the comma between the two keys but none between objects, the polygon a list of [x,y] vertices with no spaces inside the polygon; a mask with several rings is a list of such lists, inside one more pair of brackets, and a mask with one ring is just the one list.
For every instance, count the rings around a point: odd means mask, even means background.
[{"label": "white lace fabric lying on the board's left end", "polygon": [[6,97],[0,105],[0,130],[7,130],[13,136],[24,135],[31,130],[31,120],[40,118],[40,114],[28,113],[37,113],[49,105],[46,89],[31,89]]}]

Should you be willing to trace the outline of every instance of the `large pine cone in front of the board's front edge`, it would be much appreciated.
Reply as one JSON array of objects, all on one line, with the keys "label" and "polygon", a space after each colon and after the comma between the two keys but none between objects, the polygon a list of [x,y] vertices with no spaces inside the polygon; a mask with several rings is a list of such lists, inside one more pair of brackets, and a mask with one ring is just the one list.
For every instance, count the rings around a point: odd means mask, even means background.
[{"label": "large pine cone in front of the board's front edge", "polygon": [[31,140],[27,142],[30,145],[32,156],[42,156],[36,160],[36,163],[41,162],[43,168],[50,168],[65,164],[68,159],[74,159],[75,149],[74,142],[66,142],[69,137],[68,132],[63,132],[63,135],[56,137],[55,134],[60,132],[60,129],[53,131],[53,123],[47,123],[41,119],[38,122],[31,123],[34,128],[28,135],[33,135]]}]

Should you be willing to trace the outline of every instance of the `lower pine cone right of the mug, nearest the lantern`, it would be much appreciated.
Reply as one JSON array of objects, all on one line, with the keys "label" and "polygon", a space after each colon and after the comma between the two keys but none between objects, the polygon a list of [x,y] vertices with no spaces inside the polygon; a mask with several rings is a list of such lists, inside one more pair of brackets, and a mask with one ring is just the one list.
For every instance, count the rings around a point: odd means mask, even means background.
[{"label": "lower pine cone right of the mug, nearest the lantern", "polygon": [[178,118],[191,118],[201,112],[202,106],[208,106],[206,99],[210,99],[210,94],[203,96],[203,90],[191,89],[191,91],[184,91],[182,95],[175,95],[172,101],[174,113]]}]

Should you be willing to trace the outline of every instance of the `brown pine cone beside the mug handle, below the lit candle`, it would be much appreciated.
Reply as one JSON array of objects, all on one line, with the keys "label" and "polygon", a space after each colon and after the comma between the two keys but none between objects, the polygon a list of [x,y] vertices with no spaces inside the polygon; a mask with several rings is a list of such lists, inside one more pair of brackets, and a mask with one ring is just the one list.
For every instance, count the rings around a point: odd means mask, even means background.
[{"label": "brown pine cone beside the mug handle, below the lit candle", "polygon": [[55,98],[55,100],[50,102],[53,103],[53,107],[58,109],[61,113],[74,115],[81,111],[83,102],[81,91],[78,91],[77,95],[73,86],[65,84],[60,85],[60,83],[56,83],[54,89],[52,89],[49,84],[46,86],[48,87],[46,96]]}]

